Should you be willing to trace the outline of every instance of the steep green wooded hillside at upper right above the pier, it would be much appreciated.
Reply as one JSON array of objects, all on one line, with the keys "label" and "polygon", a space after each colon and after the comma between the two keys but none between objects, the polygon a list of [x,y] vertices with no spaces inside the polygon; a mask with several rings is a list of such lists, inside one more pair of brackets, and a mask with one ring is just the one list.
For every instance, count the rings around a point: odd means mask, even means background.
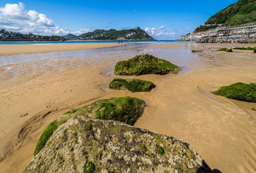
[{"label": "steep green wooded hillside at upper right above the pier", "polygon": [[207,31],[219,24],[233,26],[251,22],[256,22],[256,0],[239,0],[211,16],[205,25],[197,27],[194,32]]}]

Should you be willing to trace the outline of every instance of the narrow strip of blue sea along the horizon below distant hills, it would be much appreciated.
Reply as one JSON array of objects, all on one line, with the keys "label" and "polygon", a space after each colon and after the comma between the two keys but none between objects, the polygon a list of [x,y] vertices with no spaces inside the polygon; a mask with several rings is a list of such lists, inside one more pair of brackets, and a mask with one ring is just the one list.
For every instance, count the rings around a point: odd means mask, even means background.
[{"label": "narrow strip of blue sea along the horizon below distant hills", "polygon": [[[155,43],[155,42],[176,42],[175,40],[123,40],[123,43]],[[100,41],[33,41],[33,42],[1,42],[0,45],[23,45],[23,44],[97,44],[97,43],[103,43],[102,40]],[[109,41],[104,41],[104,43],[118,43],[118,40],[109,40]]]}]

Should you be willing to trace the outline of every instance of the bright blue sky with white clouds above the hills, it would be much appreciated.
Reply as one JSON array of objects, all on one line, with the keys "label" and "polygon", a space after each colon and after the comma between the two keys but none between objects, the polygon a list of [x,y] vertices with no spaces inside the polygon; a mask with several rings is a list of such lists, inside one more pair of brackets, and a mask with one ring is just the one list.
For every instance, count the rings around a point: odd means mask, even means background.
[{"label": "bright blue sky with white clouds above the hills", "polygon": [[1,0],[0,28],[42,35],[139,26],[155,39],[177,39],[237,0]]}]

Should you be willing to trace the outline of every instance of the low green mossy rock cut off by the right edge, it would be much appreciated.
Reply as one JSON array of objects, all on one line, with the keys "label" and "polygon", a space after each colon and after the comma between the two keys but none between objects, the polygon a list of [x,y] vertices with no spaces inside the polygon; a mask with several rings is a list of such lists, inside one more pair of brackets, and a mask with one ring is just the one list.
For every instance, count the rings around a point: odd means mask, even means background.
[{"label": "low green mossy rock cut off by the right edge", "polygon": [[238,82],[230,86],[222,86],[212,93],[227,97],[228,99],[256,103],[256,84],[254,83],[245,84]]}]

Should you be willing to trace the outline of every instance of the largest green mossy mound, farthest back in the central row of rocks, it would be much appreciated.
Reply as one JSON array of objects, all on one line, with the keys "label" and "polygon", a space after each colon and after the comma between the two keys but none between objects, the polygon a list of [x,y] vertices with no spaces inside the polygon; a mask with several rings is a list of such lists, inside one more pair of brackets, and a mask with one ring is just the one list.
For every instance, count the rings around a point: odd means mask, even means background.
[{"label": "largest green mossy mound, farthest back in the central row of rocks", "polygon": [[138,76],[143,74],[177,74],[180,70],[180,67],[169,61],[144,53],[127,61],[119,61],[115,65],[114,73],[118,75]]}]

